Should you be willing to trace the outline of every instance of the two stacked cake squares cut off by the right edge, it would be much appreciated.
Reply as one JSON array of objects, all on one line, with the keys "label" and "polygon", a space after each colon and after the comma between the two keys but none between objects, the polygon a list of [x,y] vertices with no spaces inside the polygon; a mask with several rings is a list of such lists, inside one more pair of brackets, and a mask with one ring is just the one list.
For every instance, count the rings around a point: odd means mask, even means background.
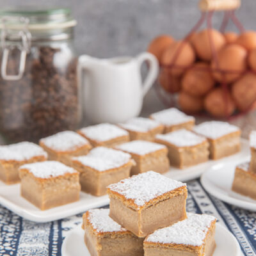
[{"label": "two stacked cake squares cut off by the right edge", "polygon": [[256,131],[250,133],[251,161],[236,166],[232,190],[256,200]]}]

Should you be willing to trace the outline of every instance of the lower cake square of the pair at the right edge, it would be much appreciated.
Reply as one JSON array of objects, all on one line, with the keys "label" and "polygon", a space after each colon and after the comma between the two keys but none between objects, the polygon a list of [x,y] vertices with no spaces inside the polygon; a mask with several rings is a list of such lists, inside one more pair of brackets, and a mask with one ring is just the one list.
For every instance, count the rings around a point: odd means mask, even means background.
[{"label": "lower cake square of the pair at the right edge", "polygon": [[236,166],[232,190],[256,200],[256,173],[250,172],[250,163]]}]

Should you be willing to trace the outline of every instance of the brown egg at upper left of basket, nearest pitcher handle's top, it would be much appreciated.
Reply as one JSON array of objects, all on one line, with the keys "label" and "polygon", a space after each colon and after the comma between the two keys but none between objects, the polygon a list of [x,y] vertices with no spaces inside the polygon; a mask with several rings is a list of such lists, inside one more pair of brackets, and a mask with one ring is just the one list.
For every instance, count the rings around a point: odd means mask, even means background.
[{"label": "brown egg at upper left of basket, nearest pitcher handle's top", "polygon": [[148,52],[154,54],[157,60],[160,61],[164,50],[168,46],[170,46],[173,41],[174,40],[172,36],[168,36],[168,35],[157,36],[154,40],[152,40],[152,42],[148,46]]}]

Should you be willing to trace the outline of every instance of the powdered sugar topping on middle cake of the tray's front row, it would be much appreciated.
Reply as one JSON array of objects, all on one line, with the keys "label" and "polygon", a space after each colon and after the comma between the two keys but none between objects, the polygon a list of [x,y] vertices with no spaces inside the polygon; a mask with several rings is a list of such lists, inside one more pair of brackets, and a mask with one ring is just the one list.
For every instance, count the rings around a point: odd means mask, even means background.
[{"label": "powdered sugar topping on middle cake of the tray's front row", "polygon": [[116,146],[116,148],[120,150],[124,150],[128,153],[137,154],[140,156],[156,152],[157,150],[161,150],[163,148],[166,148],[164,145],[157,144],[150,141],[144,141],[144,140],[134,140],[130,141],[121,145]]}]

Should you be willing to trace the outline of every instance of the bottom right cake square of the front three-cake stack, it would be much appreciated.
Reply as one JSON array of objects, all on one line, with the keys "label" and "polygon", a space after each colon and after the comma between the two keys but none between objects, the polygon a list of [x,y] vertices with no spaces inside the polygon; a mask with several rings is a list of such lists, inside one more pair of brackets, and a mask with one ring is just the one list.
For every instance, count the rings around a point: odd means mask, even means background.
[{"label": "bottom right cake square of the front three-cake stack", "polygon": [[215,227],[216,218],[213,216],[188,213],[186,220],[147,236],[145,256],[212,256],[216,248]]}]

